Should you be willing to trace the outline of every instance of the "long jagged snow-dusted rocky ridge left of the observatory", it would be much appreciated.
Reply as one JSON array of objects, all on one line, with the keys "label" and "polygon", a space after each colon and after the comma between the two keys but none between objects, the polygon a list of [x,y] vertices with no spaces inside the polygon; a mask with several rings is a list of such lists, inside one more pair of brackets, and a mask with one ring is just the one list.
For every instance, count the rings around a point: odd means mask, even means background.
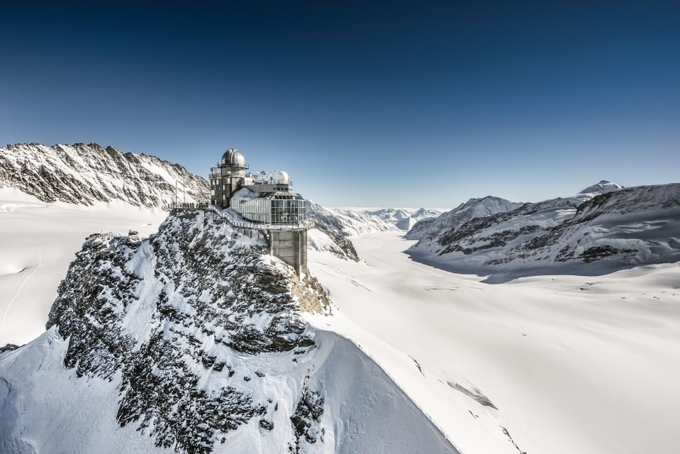
[{"label": "long jagged snow-dusted rocky ridge left of the observatory", "polygon": [[96,143],[17,143],[0,148],[0,188],[13,187],[41,201],[92,205],[121,200],[162,206],[208,200],[205,179],[155,156],[121,153]]}]

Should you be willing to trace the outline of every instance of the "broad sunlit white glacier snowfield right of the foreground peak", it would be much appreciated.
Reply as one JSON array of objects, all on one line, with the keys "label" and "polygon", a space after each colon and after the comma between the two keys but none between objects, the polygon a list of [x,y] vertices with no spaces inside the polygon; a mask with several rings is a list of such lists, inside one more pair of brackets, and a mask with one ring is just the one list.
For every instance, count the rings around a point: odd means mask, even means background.
[{"label": "broad sunlit white glacier snowfield right of the foreground peak", "polygon": [[496,431],[514,453],[676,451],[679,264],[492,285],[410,260],[413,243],[373,233],[355,239],[365,262],[311,252],[310,266],[338,306],[328,329],[459,450],[503,452],[481,444]]}]

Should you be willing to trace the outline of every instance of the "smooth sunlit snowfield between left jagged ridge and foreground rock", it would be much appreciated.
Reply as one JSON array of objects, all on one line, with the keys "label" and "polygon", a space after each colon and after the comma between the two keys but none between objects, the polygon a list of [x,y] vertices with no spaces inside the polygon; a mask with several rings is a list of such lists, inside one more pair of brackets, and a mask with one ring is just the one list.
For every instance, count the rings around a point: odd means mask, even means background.
[{"label": "smooth sunlit snowfield between left jagged ridge and foreground rock", "polygon": [[57,287],[85,238],[103,231],[149,235],[166,216],[122,201],[50,204],[0,189],[0,346],[22,345],[45,331]]}]

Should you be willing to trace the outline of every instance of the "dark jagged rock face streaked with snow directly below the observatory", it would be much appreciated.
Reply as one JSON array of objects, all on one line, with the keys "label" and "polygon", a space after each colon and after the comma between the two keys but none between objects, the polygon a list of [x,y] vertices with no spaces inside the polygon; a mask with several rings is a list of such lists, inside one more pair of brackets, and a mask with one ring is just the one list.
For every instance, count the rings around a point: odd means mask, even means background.
[{"label": "dark jagged rock face streaked with snow directly below the observatory", "polygon": [[[48,328],[69,339],[64,362],[79,377],[121,377],[118,422],[158,446],[208,453],[253,418],[271,431],[275,402],[248,391],[266,374],[236,375],[243,365],[235,355],[304,355],[313,331],[294,294],[308,310],[324,311],[328,299],[315,278],[296,281],[262,253],[264,244],[201,212],[169,216],[149,240],[90,236],[60,284]],[[220,385],[206,389],[205,377]]]}]

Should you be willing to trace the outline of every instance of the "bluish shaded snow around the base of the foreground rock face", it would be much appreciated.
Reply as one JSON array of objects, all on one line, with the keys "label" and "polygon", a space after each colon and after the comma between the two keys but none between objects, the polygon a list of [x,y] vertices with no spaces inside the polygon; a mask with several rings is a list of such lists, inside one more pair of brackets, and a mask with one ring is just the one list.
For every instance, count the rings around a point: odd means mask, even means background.
[{"label": "bluish shaded snow around the base of the foreground rock face", "polygon": [[[261,362],[239,370],[252,377],[257,377],[254,366],[267,372],[267,380],[257,380],[265,382],[265,399],[279,404],[274,429],[268,432],[259,423],[245,423],[226,434],[225,442],[211,452],[288,453],[286,442],[294,438],[289,416],[300,390],[325,387],[324,441],[303,442],[301,453],[457,453],[356,345],[328,331],[318,331],[315,340],[319,347],[298,363],[290,355],[263,355]],[[116,421],[119,378],[109,382],[78,377],[63,365],[66,351],[67,342],[52,329],[21,350],[0,355],[0,372],[6,380],[0,381],[0,428],[4,430],[0,452],[177,452],[156,446],[149,431],[121,427]],[[215,386],[216,378],[211,380]]]}]

